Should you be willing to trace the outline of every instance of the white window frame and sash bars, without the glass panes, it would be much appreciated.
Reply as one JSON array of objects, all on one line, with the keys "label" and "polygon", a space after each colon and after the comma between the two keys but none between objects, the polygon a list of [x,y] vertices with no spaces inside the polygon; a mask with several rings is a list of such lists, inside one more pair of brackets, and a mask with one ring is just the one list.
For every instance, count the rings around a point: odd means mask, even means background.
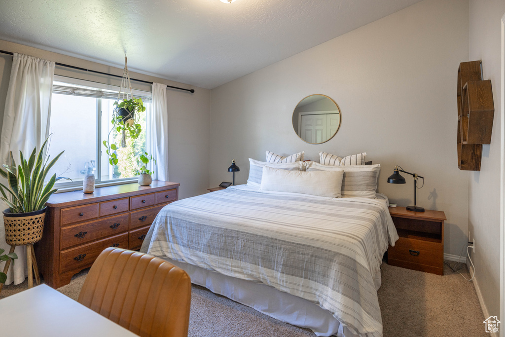
[{"label": "white window frame and sash bars, without the glass panes", "polygon": [[[120,87],[117,85],[111,85],[111,84],[105,84],[105,83],[100,83],[100,82],[95,82],[95,81],[90,81],[90,80],[83,80],[79,78],[74,78],[74,77],[68,77],[68,76],[61,76],[61,75],[54,75],[53,78],[53,83],[54,82],[63,82],[66,84],[70,85],[76,85],[76,86],[85,86],[85,87],[92,87],[94,89],[99,90],[108,90],[108,91],[114,91],[116,93],[119,93]],[[132,89],[131,90],[135,98],[142,98],[142,101],[145,103],[151,103],[152,101],[152,92],[149,91],[143,91],[143,90],[137,90],[137,89]],[[52,91],[52,94],[55,92]],[[68,94],[68,95],[79,95],[82,97],[94,97],[96,99],[96,153],[95,153],[95,161],[96,161],[96,169],[95,169],[95,187],[100,187],[100,186],[112,186],[112,185],[120,185],[120,184],[125,184],[125,183],[131,183],[131,182],[137,182],[138,177],[128,177],[128,178],[118,178],[118,179],[108,179],[108,180],[102,180],[101,176],[102,174],[99,172],[102,172],[102,153],[103,153],[103,140],[102,139],[102,99],[111,99],[109,97],[95,97],[93,95],[85,95],[85,94],[70,94],[70,93],[63,93],[63,92],[56,92],[56,94]],[[145,100],[144,100],[145,98]],[[115,100],[117,97],[115,98]],[[146,126],[148,123],[148,116],[147,111],[146,111]],[[110,121],[109,121],[110,122]],[[51,120],[49,120],[49,126],[51,126]],[[145,130],[143,130],[145,132]],[[147,137],[145,139],[145,147],[147,150],[148,147],[148,140]],[[106,165],[110,165],[109,162],[106,162]],[[65,175],[65,174],[63,174]],[[82,189],[82,181],[67,181],[67,180],[60,180],[55,183],[55,188],[58,188],[58,191],[69,191],[69,190],[78,190]]]}]

